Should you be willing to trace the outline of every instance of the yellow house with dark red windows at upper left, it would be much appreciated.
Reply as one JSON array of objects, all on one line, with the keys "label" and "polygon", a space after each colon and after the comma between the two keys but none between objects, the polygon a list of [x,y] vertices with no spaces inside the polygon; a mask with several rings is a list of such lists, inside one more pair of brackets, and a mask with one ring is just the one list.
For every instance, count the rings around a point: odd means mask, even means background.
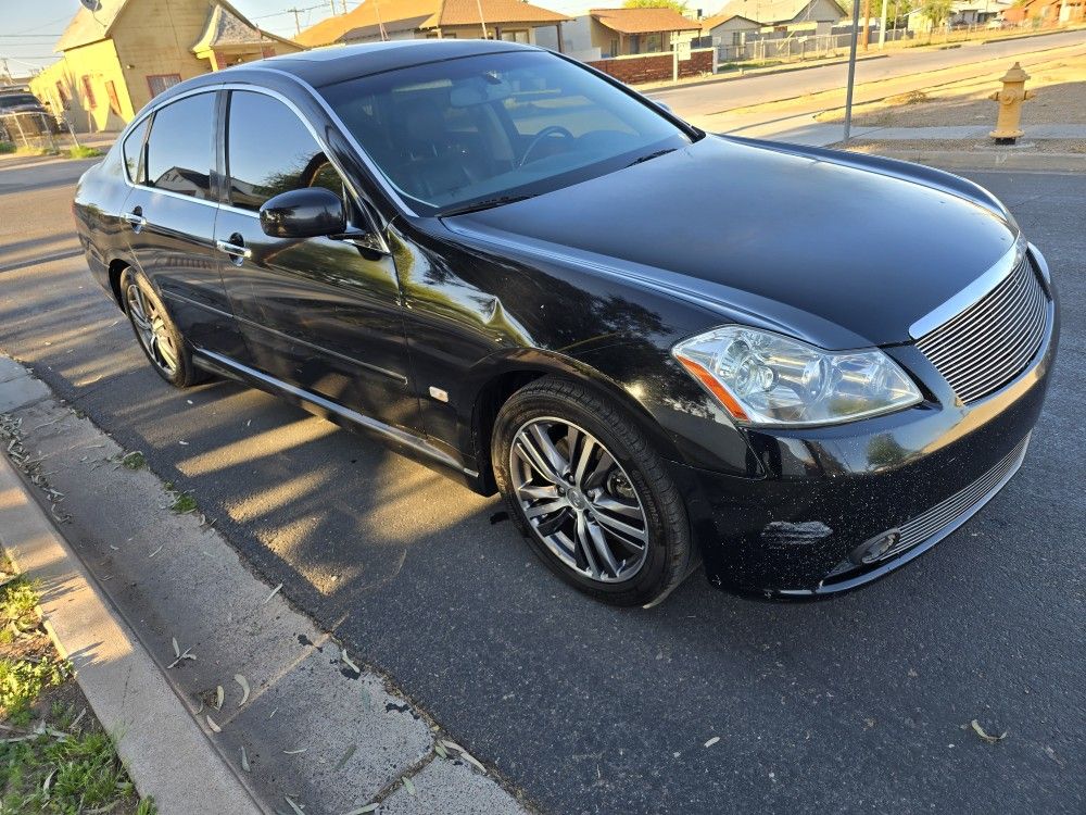
[{"label": "yellow house with dark red windows at upper left", "polygon": [[76,129],[116,130],[184,79],[302,47],[250,23],[225,0],[102,0],[80,9],[61,60],[30,89]]}]

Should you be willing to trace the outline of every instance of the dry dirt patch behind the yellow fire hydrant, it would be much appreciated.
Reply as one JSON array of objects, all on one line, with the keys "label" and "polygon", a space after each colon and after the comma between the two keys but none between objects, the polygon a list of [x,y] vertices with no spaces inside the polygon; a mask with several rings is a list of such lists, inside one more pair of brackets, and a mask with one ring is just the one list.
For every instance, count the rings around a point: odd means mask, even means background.
[{"label": "dry dirt patch behind the yellow fire hydrant", "polygon": [[[1086,124],[1086,55],[1053,60],[1041,68],[1030,68],[1027,73],[1030,79],[1026,88],[1036,91],[1037,96],[1027,100],[1023,106],[1023,124]],[[1000,76],[1002,71],[993,73],[992,77],[983,82],[974,79],[955,83],[937,90],[907,93],[891,97],[883,102],[860,105],[854,110],[853,124],[943,127],[994,123],[998,105],[987,97],[999,89]],[[832,111],[820,115],[818,121],[839,122],[843,118],[842,111]]]}]

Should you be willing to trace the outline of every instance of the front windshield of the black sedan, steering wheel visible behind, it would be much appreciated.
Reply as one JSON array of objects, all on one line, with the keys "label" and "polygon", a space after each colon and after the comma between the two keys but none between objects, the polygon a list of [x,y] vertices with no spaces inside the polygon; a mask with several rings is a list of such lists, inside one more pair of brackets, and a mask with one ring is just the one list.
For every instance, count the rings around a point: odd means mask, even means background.
[{"label": "front windshield of the black sedan, steering wheel visible behind", "polygon": [[321,89],[414,209],[450,214],[547,192],[690,143],[690,133],[543,51],[416,65]]}]

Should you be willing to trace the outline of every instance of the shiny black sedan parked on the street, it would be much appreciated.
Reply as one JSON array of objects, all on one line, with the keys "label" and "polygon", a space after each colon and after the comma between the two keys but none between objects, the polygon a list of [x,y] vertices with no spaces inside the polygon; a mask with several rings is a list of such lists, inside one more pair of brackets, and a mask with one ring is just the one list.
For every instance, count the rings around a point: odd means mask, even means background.
[{"label": "shiny black sedan parked on the street", "polygon": [[616,604],[866,584],[1015,473],[1056,355],[992,195],[705,134],[560,54],[407,41],[157,97],[81,179],[177,387],[240,379],[500,490]]}]

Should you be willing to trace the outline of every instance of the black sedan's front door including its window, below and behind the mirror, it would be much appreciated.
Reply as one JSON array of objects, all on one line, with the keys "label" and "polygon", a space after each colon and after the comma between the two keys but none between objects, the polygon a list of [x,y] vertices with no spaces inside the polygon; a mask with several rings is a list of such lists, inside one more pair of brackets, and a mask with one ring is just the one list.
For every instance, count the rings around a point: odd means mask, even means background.
[{"label": "black sedan's front door including its window, below and behind the mirror", "polygon": [[[272,143],[268,133],[276,134]],[[272,238],[261,229],[256,210],[278,192],[320,185],[348,201],[316,139],[285,103],[248,91],[231,92],[226,138],[231,205],[220,210],[215,238],[248,250],[248,258],[219,258],[255,365],[367,416],[419,429],[392,259],[350,241]]]}]

